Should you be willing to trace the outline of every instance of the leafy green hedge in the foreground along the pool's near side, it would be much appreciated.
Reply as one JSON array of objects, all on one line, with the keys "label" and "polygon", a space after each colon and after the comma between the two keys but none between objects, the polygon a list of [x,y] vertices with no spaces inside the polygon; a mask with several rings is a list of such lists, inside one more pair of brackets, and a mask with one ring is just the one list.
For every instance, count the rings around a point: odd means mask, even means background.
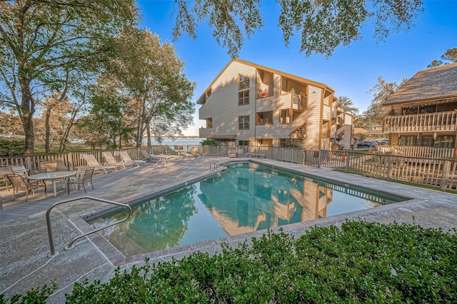
[{"label": "leafy green hedge in the foreground along the pool's near side", "polygon": [[456,230],[347,221],[116,270],[67,303],[457,303]]}]

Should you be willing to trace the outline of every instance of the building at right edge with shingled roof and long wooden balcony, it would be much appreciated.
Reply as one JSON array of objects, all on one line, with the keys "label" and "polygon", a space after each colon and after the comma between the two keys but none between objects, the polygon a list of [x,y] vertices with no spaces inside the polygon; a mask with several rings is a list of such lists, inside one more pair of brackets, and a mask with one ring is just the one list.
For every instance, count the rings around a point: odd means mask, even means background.
[{"label": "building at right edge with shingled roof and long wooden balcony", "polygon": [[457,64],[418,71],[383,106],[392,146],[450,148],[457,156]]}]

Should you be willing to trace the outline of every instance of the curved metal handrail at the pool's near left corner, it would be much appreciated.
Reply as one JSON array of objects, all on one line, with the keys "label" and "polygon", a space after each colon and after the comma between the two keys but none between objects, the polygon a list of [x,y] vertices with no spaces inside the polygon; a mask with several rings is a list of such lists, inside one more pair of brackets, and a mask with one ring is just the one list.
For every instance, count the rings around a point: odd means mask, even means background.
[{"label": "curved metal handrail at the pool's near left corner", "polygon": [[59,203],[55,203],[54,205],[49,207],[48,210],[46,211],[46,225],[48,226],[49,247],[51,248],[51,253],[49,253],[49,255],[48,255],[49,258],[52,258],[54,255],[59,254],[59,251],[56,252],[56,250],[54,249],[54,239],[52,238],[52,230],[51,230],[51,216],[50,216],[51,210],[54,207],[59,206],[59,205],[61,205],[63,203],[70,203],[72,201],[79,201],[79,200],[82,200],[82,199],[100,201],[100,202],[103,202],[103,203],[110,203],[112,205],[122,206],[122,207],[128,208],[129,209],[129,215],[127,215],[126,218],[123,218],[123,219],[121,219],[119,221],[116,221],[114,223],[109,224],[108,226],[101,227],[101,228],[98,228],[98,229],[93,230],[91,232],[84,233],[82,235],[77,236],[76,238],[71,240],[71,242],[68,245],[66,245],[65,250],[69,250],[69,249],[73,248],[74,247],[73,243],[74,243],[75,240],[78,240],[79,238],[82,238],[82,237],[84,237],[86,235],[89,235],[91,233],[96,233],[97,231],[100,231],[100,230],[102,230],[104,228],[108,228],[108,227],[114,226],[116,224],[122,223],[122,222],[126,221],[131,215],[131,207],[129,205],[126,205],[124,203],[117,203],[117,202],[114,202],[114,201],[104,200],[103,198],[94,198],[92,196],[80,196],[79,198],[73,198],[71,200],[66,200],[66,201],[61,201]]}]

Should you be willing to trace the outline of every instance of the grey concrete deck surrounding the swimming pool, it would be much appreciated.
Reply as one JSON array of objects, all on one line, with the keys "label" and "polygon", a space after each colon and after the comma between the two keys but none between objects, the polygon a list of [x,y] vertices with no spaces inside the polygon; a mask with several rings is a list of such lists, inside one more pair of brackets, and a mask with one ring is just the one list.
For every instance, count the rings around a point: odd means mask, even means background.
[{"label": "grey concrete deck surrounding the swimming pool", "polygon": [[[87,196],[120,203],[140,201],[151,194],[168,192],[169,189],[179,187],[187,181],[196,181],[214,174],[209,171],[209,166],[215,161],[233,161],[233,158],[179,158],[174,159],[169,166],[154,166],[148,163],[147,166],[139,168],[96,174],[93,178],[95,189],[89,188]],[[305,233],[310,226],[338,225],[346,218],[364,218],[366,221],[381,223],[416,223],[424,227],[441,227],[444,230],[457,228],[457,196],[453,194],[269,159],[256,159],[256,162],[411,198],[408,201],[366,211],[283,226],[284,231],[296,236]],[[81,216],[99,213],[107,208],[94,201],[79,200],[69,205],[58,206],[52,211],[54,243],[59,254],[48,258],[46,209],[68,198],[84,196],[82,188],[80,191],[72,190],[70,196],[67,196],[66,190],[59,185],[58,191],[56,197],[52,196],[52,191],[48,191],[49,196],[45,198],[39,190],[27,203],[24,191],[16,196],[14,202],[11,201],[11,192],[0,191],[0,293],[6,298],[16,293],[24,293],[32,287],[41,287],[49,280],[56,280],[59,289],[51,296],[49,303],[64,303],[65,294],[71,293],[75,282],[82,282],[86,278],[89,282],[106,282],[114,274],[116,265],[120,265],[122,270],[128,270],[132,265],[142,265],[146,256],[151,258],[151,263],[157,263],[171,260],[172,256],[181,258],[196,250],[216,253],[219,252],[222,242],[236,245],[264,233],[256,231],[134,257],[124,257],[95,233],[77,240],[71,250],[64,250],[70,240],[86,229]]]}]

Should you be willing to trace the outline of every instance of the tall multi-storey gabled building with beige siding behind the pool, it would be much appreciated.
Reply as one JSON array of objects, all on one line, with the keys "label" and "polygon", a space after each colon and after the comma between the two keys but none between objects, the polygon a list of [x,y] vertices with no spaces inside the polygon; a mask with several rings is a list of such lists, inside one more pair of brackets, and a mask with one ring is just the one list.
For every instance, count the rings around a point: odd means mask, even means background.
[{"label": "tall multi-storey gabled building with beige siding behind the pool", "polygon": [[199,136],[228,146],[279,147],[295,138],[310,150],[344,141],[349,148],[353,125],[345,126],[334,93],[324,83],[232,59],[197,101],[206,121]]}]

